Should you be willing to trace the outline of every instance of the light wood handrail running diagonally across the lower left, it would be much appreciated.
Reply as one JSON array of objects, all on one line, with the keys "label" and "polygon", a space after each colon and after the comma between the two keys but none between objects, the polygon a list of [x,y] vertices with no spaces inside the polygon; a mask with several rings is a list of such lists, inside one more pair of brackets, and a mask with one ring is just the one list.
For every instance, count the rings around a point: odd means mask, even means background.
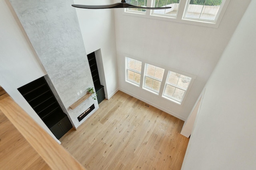
[{"label": "light wood handrail running diagonally across the lower left", "polygon": [[69,152],[59,145],[12,98],[7,97],[0,100],[0,109],[50,168],[53,170],[85,170]]}]

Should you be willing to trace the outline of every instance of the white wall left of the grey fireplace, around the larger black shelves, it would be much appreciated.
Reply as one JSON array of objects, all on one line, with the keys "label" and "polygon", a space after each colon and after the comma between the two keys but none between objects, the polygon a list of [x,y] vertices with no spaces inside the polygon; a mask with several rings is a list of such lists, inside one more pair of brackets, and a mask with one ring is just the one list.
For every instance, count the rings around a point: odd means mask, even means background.
[{"label": "white wall left of the grey fireplace, around the larger black shelves", "polygon": [[0,85],[22,109],[56,139],[17,90],[45,74],[46,71],[10,3],[0,0]]}]

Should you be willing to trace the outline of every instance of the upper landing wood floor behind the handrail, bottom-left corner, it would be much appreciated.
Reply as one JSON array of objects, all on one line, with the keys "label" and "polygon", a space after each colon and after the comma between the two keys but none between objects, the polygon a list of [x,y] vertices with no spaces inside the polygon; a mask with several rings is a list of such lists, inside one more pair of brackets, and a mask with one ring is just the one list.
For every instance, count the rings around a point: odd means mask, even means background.
[{"label": "upper landing wood floor behind the handrail, bottom-left corner", "polygon": [[[0,100],[8,97],[1,90]],[[0,110],[0,170],[50,170]]]}]

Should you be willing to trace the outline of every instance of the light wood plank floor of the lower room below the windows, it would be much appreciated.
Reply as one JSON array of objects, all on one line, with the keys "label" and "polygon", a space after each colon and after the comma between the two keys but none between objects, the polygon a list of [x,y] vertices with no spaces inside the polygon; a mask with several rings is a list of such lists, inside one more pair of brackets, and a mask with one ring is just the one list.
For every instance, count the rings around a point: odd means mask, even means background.
[{"label": "light wood plank floor of the lower room below the windows", "polygon": [[184,121],[118,91],[60,141],[88,170],[180,170]]}]

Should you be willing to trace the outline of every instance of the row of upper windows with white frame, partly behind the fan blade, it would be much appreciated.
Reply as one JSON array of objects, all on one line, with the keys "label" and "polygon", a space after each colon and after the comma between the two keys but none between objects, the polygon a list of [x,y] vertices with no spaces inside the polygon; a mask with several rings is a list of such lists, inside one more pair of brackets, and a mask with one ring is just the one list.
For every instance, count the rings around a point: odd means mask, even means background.
[{"label": "row of upper windows with white frame, partly behind the fan blade", "polygon": [[126,15],[218,27],[230,0],[126,0],[126,2],[136,6],[172,7],[164,10],[128,8],[124,10]]}]

